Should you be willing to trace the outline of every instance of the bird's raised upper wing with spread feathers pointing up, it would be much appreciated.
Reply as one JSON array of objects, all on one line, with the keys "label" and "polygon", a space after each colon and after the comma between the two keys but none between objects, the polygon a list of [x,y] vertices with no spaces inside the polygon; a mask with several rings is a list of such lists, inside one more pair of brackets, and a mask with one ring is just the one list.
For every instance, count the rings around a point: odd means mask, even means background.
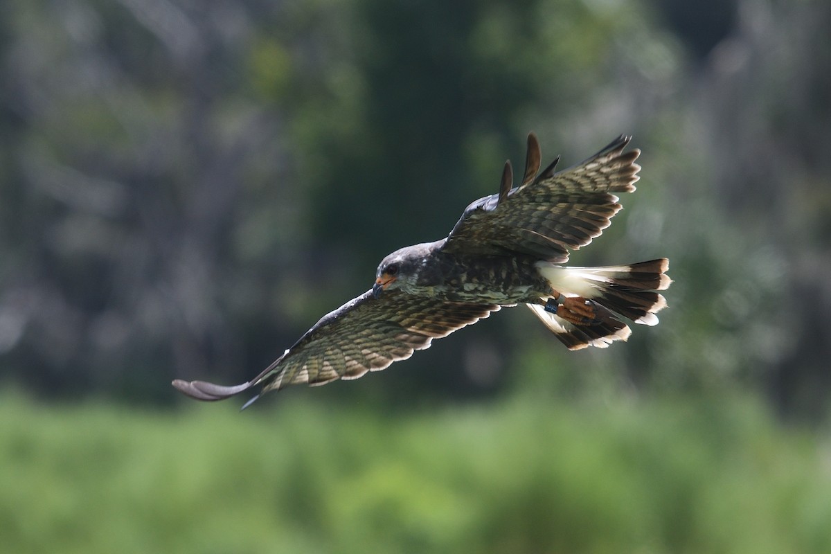
[{"label": "bird's raised upper wing with spread feathers pointing up", "polygon": [[524,179],[511,188],[505,164],[499,194],[465,209],[447,238],[445,252],[527,254],[549,262],[568,261],[568,251],[592,242],[621,209],[612,193],[635,190],[640,150],[623,149],[632,137],[621,135],[583,163],[554,173],[557,160],[537,175],[539,145],[532,133]]}]

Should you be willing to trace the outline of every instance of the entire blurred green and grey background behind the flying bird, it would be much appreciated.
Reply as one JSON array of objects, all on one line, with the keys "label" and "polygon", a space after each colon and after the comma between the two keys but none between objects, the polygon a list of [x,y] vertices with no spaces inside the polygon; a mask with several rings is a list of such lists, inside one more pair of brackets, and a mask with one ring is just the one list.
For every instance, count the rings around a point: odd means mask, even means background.
[{"label": "entire blurred green and grey background behind the flying bird", "polygon": [[[831,4],[4,0],[7,552],[831,552]],[[661,325],[499,312],[238,414],[377,262],[621,133],[583,265]],[[244,399],[243,399],[244,400]]]}]

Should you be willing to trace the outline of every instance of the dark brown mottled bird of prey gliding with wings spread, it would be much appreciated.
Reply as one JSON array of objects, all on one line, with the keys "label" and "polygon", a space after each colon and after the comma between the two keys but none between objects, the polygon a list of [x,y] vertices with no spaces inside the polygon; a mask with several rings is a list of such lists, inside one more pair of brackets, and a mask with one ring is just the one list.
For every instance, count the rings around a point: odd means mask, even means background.
[{"label": "dark brown mottled bird of prey gliding with wings spread", "polygon": [[[465,208],[450,235],[392,252],[370,290],[320,321],[247,383],[221,386],[174,380],[197,400],[223,400],[288,385],[324,385],[386,369],[434,339],[525,304],[569,350],[606,348],[632,333],[625,320],[656,325],[670,286],[666,258],[607,267],[564,267],[568,252],[597,238],[631,193],[640,150],[620,136],[569,169],[555,159],[539,172],[537,137],[528,136],[525,172],[513,186],[505,162],[499,193]],[[248,406],[245,404],[245,406]],[[243,406],[244,407],[244,406]]]}]

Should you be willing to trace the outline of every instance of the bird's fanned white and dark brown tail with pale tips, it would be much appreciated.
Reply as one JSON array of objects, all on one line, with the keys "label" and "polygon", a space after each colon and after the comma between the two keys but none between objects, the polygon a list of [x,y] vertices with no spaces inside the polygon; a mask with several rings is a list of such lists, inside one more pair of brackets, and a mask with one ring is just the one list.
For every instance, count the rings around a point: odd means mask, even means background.
[{"label": "bird's fanned white and dark brown tail with pale tips", "polygon": [[672,282],[665,274],[669,269],[666,258],[627,266],[562,267],[538,262],[537,267],[565,302],[543,297],[542,304],[527,306],[569,350],[606,348],[612,341],[626,341],[632,330],[623,318],[656,325],[656,312],[666,307],[666,299],[657,291]]}]

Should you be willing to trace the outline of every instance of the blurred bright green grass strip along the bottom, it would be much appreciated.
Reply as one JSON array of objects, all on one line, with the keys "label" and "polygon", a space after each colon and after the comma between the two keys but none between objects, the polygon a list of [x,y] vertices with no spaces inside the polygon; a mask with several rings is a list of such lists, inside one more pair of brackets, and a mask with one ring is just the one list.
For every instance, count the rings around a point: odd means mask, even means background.
[{"label": "blurred bright green grass strip along the bottom", "polygon": [[2,551],[831,552],[829,444],[749,400],[236,408],[0,398]]}]

